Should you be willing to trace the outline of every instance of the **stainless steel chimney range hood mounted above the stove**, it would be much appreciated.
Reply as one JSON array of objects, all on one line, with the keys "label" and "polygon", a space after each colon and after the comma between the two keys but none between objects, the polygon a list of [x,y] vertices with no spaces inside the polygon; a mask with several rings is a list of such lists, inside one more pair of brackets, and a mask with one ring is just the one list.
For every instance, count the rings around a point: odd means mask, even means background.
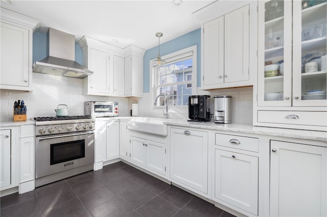
[{"label": "stainless steel chimney range hood mounted above the stove", "polygon": [[93,74],[75,62],[75,36],[49,28],[47,57],[35,62],[33,72],[84,78]]}]

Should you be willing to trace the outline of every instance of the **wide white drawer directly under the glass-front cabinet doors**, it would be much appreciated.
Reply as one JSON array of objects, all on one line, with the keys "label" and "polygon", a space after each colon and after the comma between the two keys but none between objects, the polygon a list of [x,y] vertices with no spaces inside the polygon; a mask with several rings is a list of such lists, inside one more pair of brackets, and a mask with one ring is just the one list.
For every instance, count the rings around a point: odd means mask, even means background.
[{"label": "wide white drawer directly under the glass-front cabinet doors", "polygon": [[327,126],[327,112],[258,111],[258,122]]}]

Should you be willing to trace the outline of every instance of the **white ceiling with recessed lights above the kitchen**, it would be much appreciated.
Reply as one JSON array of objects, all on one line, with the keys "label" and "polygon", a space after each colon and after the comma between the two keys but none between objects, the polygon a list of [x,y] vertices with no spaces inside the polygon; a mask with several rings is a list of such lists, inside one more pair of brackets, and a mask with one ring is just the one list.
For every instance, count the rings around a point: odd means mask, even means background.
[{"label": "white ceiling with recessed lights above the kitchen", "polygon": [[40,26],[73,34],[76,41],[85,35],[122,48],[133,44],[147,50],[157,46],[157,32],[164,34],[161,44],[200,28],[192,13],[213,2],[183,0],[180,7],[173,7],[172,0],[12,0],[1,1],[1,7],[38,19]]}]

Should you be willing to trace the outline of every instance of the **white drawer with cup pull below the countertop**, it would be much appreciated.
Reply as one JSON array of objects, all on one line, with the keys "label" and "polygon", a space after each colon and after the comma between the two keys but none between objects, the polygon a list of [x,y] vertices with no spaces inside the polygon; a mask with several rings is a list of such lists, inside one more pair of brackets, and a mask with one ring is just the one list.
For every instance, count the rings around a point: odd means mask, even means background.
[{"label": "white drawer with cup pull below the countertop", "polygon": [[259,139],[216,133],[216,145],[259,152]]}]

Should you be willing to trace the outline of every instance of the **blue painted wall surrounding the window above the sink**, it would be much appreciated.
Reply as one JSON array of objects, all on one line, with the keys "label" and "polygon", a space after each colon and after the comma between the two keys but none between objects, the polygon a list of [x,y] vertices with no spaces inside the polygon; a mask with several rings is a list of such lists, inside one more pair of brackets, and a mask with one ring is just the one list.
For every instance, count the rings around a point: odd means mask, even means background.
[{"label": "blue painted wall surrounding the window above the sink", "polygon": [[[165,37],[165,34],[164,34]],[[194,30],[164,44],[160,44],[160,56],[197,45],[197,87],[201,86],[201,29]],[[158,56],[158,46],[145,51],[143,58],[143,92],[150,92],[150,60]]]}]

